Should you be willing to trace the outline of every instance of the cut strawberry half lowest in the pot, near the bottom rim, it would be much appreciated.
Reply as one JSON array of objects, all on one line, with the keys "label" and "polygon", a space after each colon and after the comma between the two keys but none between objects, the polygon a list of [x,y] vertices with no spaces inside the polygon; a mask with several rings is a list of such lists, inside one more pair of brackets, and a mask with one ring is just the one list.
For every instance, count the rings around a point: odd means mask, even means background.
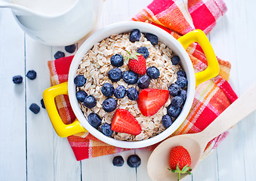
[{"label": "cut strawberry half lowest in the pot, near the bottom rim", "polygon": [[141,133],[139,122],[125,109],[117,109],[112,118],[111,130],[138,135]]}]

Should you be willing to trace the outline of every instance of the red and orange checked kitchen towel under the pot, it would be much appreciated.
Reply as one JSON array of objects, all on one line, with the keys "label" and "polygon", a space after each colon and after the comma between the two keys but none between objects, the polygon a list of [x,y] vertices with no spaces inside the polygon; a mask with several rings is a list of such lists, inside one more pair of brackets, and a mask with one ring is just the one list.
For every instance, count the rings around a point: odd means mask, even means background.
[{"label": "red and orange checked kitchen towel under the pot", "polygon": [[[217,18],[226,11],[227,8],[222,0],[188,0],[187,4],[181,0],[154,0],[132,20],[152,23],[165,29],[174,38],[179,38],[180,35],[193,29],[202,29],[207,34],[215,25]],[[195,72],[202,71],[207,67],[207,60],[198,44],[190,44],[187,52]],[[217,60],[220,64],[220,74],[196,87],[196,94],[189,115],[171,136],[204,130],[237,99],[227,82],[230,75],[230,63],[218,58]],[[71,61],[72,57],[48,61],[52,85],[67,81]],[[56,97],[56,103],[62,120],[66,124],[71,123],[76,117],[72,112],[68,97],[60,95]],[[211,140],[205,149],[205,155],[208,155],[226,135],[227,132]],[[67,139],[78,161],[127,150],[109,146],[97,140],[90,133],[76,134]],[[153,150],[154,146],[144,149]]]}]

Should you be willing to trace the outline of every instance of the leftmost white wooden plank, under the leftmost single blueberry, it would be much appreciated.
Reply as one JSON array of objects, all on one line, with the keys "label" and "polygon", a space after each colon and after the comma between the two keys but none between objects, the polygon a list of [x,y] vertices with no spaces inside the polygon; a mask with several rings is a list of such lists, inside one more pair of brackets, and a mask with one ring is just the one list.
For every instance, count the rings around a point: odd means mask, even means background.
[{"label": "leftmost white wooden plank, under the leftmost single blueberry", "polygon": [[26,180],[24,33],[9,9],[0,11],[0,40],[0,180]]}]

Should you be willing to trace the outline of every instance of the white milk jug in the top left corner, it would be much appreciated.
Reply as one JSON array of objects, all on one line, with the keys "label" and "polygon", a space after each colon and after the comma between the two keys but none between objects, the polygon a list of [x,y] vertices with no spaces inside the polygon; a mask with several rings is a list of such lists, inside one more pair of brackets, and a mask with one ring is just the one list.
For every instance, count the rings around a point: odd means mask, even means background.
[{"label": "white milk jug in the top left corner", "polygon": [[0,0],[11,8],[20,28],[51,46],[73,44],[97,23],[103,0]]}]

